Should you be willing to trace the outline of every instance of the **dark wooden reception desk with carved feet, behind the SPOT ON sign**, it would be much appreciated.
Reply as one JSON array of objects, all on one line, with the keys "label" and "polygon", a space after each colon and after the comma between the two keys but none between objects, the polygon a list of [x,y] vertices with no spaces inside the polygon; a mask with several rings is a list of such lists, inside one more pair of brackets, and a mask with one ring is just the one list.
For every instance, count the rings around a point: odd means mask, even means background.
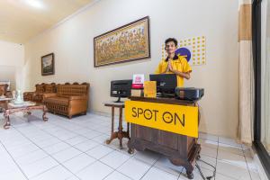
[{"label": "dark wooden reception desk with carved feet, behind the SPOT ON sign", "polygon": [[[130,97],[130,100],[146,103],[196,106],[196,102],[176,100],[174,98]],[[200,121],[200,115],[198,115],[198,119]],[[193,179],[193,166],[201,150],[201,145],[198,144],[197,138],[166,130],[157,130],[135,123],[130,124],[128,147],[130,153],[133,153],[135,148],[139,151],[149,149],[165,155],[175,166],[184,166],[187,177],[190,179]]]}]

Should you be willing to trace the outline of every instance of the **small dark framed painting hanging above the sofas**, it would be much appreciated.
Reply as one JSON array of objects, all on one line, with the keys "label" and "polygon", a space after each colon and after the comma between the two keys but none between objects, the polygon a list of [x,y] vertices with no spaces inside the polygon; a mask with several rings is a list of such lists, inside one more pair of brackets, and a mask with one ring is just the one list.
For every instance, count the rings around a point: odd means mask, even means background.
[{"label": "small dark framed painting hanging above the sofas", "polygon": [[41,75],[54,75],[54,54],[50,53],[41,57]]}]

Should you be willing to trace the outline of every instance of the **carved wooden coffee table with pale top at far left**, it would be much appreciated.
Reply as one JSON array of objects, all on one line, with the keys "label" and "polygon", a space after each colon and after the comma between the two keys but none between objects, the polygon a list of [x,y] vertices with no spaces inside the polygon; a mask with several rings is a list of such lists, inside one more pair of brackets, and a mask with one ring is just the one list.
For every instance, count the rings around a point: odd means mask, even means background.
[{"label": "carved wooden coffee table with pale top at far left", "polygon": [[35,103],[34,105],[24,105],[20,107],[14,107],[9,103],[2,103],[0,104],[0,108],[2,108],[2,110],[4,111],[4,119],[6,120],[4,124],[5,130],[10,128],[11,123],[9,116],[15,112],[23,112],[28,115],[31,115],[32,110],[40,110],[43,112],[42,115],[43,121],[48,121],[48,118],[46,117],[46,112],[48,112],[48,109],[46,105],[44,105],[43,103]]}]

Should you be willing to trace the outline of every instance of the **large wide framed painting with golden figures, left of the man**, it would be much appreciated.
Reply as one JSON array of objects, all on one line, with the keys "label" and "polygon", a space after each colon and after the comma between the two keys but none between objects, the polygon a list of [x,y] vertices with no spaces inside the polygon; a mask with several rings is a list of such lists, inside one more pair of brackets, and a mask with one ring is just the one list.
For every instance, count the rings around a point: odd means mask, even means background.
[{"label": "large wide framed painting with golden figures, left of the man", "polygon": [[94,67],[150,58],[149,17],[94,37]]}]

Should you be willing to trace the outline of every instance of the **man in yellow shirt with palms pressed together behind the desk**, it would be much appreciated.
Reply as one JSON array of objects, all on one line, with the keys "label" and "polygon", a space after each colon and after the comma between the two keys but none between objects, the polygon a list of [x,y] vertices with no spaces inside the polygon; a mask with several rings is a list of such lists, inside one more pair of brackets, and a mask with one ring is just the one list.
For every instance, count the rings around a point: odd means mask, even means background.
[{"label": "man in yellow shirt with palms pressed together behind the desk", "polygon": [[177,40],[169,38],[165,41],[167,58],[161,60],[155,71],[156,74],[175,74],[177,76],[177,86],[184,86],[184,78],[190,79],[192,68],[186,58],[175,55]]}]

